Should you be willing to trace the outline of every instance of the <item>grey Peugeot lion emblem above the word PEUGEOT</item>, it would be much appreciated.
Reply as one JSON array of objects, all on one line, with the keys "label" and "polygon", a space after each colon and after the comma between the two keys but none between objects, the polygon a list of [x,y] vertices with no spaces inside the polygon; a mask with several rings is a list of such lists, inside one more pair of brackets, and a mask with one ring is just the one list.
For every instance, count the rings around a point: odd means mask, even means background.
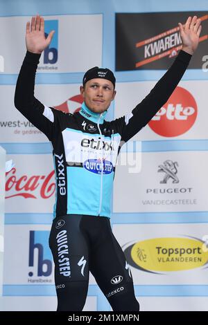
[{"label": "grey Peugeot lion emblem above the word PEUGEOT", "polygon": [[173,163],[172,160],[166,160],[164,161],[164,165],[159,165],[159,172],[165,173],[163,180],[160,180],[159,183],[166,184],[168,179],[171,178],[173,180],[172,183],[179,183],[179,179],[177,178],[177,168],[178,166],[177,161]]}]

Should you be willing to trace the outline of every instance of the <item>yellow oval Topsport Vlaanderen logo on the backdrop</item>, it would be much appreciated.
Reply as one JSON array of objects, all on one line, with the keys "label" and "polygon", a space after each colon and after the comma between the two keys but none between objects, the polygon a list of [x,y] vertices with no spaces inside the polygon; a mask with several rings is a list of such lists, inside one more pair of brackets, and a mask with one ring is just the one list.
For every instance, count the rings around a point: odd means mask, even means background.
[{"label": "yellow oval Topsport Vlaanderen logo on the backdrop", "polygon": [[130,259],[139,269],[166,272],[200,268],[208,262],[204,243],[190,238],[156,238],[139,241],[130,249]]}]

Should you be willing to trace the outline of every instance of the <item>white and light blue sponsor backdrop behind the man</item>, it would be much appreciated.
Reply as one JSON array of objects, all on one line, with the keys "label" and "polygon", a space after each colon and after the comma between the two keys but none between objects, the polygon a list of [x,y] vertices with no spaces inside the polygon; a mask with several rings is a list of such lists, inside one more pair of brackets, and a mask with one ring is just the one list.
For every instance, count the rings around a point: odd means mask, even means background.
[{"label": "white and light blue sponsor backdrop behind the man", "polygon": [[[38,66],[36,97],[73,113],[83,101],[83,73],[109,67],[117,95],[107,120],[130,112],[172,64],[181,48],[177,23],[189,15],[202,19],[198,51],[182,81],[121,150],[130,161],[116,167],[111,220],[141,310],[208,310],[207,1],[0,0],[0,6],[0,145],[15,163],[6,174],[1,310],[55,310],[57,302],[48,244],[51,142],[13,104],[26,21],[37,13],[46,34],[55,35]],[[110,310],[92,276],[85,310]]]}]

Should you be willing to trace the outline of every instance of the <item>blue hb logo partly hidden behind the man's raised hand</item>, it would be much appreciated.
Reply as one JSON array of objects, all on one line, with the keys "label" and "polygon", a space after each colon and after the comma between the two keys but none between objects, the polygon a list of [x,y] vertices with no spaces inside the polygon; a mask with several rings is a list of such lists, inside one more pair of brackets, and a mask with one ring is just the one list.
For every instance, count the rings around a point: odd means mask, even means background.
[{"label": "blue hb logo partly hidden behind the man's raised hand", "polygon": [[58,60],[58,20],[46,20],[44,28],[45,37],[55,30],[51,44],[44,50],[44,64],[55,64]]}]

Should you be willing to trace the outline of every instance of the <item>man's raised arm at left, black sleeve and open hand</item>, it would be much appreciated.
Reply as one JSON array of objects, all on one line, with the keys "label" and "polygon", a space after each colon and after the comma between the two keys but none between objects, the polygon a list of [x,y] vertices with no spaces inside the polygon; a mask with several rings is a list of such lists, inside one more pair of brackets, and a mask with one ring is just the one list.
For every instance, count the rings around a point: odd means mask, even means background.
[{"label": "man's raised arm at left, black sleeve and open hand", "polygon": [[49,46],[54,34],[44,35],[44,19],[37,15],[26,24],[26,56],[19,72],[15,90],[15,106],[37,129],[48,138],[53,138],[53,129],[57,122],[58,111],[44,106],[34,96],[35,73],[40,55]]}]

